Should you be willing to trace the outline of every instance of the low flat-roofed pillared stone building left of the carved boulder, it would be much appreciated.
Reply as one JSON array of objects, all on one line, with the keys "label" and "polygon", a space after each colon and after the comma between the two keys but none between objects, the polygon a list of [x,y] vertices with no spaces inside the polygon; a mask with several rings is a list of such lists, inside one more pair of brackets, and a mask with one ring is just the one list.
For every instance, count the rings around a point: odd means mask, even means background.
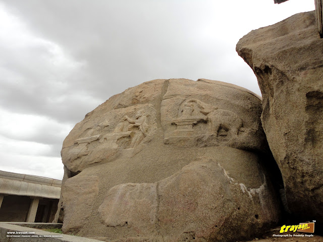
[{"label": "low flat-roofed pillared stone building left of the carved boulder", "polygon": [[0,170],[0,221],[51,222],[62,181]]}]

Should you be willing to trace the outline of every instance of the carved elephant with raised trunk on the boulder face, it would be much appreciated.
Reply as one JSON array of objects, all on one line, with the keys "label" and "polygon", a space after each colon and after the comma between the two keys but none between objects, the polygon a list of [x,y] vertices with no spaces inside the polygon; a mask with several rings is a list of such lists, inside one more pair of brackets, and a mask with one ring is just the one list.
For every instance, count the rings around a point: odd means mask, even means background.
[{"label": "carved elephant with raised trunk on the boulder face", "polygon": [[195,102],[200,112],[207,116],[211,134],[218,136],[219,131],[224,131],[231,135],[238,135],[239,130],[243,131],[243,123],[237,113],[214,107],[197,99],[190,99],[187,102]]}]

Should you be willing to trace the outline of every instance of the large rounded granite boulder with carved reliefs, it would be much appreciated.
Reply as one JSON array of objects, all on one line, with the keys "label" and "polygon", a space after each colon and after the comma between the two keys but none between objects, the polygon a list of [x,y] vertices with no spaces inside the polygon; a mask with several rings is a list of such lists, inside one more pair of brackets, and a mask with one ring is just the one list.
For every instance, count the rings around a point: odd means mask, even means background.
[{"label": "large rounded granite boulder with carved reliefs", "polygon": [[236,241],[266,230],[279,202],[263,168],[275,161],[261,109],[256,94],[204,79],[153,80],[111,97],[64,141],[63,231]]}]

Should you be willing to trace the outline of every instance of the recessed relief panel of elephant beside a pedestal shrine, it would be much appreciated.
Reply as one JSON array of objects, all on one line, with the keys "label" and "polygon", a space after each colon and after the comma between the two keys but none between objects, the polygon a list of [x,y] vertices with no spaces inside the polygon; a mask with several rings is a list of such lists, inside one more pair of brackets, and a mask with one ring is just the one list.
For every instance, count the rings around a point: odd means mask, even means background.
[{"label": "recessed relief panel of elephant beside a pedestal shrine", "polygon": [[243,121],[237,113],[198,99],[184,101],[179,107],[178,117],[172,120],[172,125],[176,128],[166,135],[164,142],[183,146],[194,140],[205,146],[232,143],[245,131]]}]

